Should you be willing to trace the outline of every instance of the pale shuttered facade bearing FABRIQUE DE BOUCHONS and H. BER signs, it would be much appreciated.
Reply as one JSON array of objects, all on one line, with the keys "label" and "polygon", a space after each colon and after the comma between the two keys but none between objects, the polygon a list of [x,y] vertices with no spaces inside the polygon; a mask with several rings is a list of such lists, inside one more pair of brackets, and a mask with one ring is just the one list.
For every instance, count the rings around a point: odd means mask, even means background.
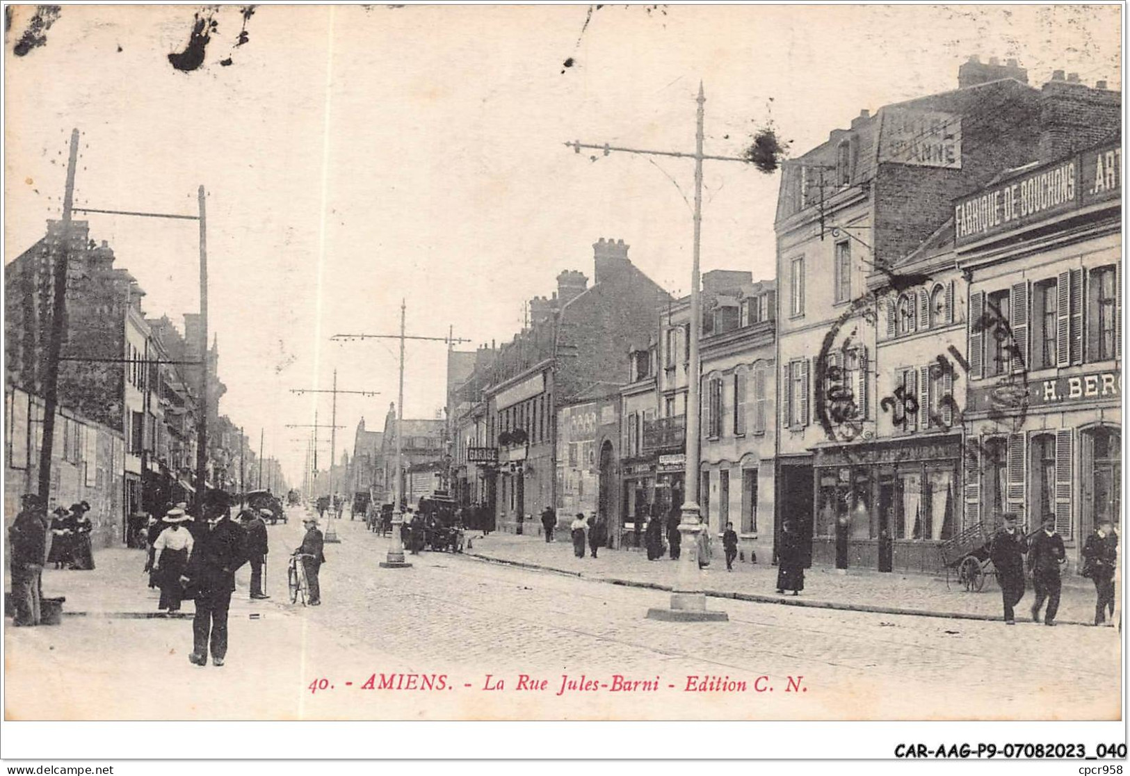
[{"label": "pale shuttered facade bearing FABRIQUE DE BOUCHONS and H. BER signs", "polygon": [[955,204],[964,522],[1051,514],[1074,567],[1099,520],[1121,522],[1121,169],[1115,136]]}]

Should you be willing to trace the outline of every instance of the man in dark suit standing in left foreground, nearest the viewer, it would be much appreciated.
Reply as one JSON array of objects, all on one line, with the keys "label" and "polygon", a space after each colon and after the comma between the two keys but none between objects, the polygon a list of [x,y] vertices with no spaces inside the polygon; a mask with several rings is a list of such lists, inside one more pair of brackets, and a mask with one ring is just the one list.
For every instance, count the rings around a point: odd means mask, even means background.
[{"label": "man in dark suit standing in left foreground, nearest the viewer", "polygon": [[189,661],[223,665],[227,654],[227,609],[235,592],[235,572],[247,560],[247,537],[228,516],[231,496],[211,490],[205,497],[203,525],[198,530],[184,579],[195,587],[192,654]]}]

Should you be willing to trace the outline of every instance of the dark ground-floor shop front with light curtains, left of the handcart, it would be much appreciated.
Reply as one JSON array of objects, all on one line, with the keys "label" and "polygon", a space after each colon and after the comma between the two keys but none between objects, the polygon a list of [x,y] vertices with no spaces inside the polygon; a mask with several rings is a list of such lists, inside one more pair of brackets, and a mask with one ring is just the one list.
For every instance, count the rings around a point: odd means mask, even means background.
[{"label": "dark ground-floor shop front with light curtains, left of the handcart", "polygon": [[941,570],[959,530],[959,434],[816,453],[812,560],[879,572]]}]

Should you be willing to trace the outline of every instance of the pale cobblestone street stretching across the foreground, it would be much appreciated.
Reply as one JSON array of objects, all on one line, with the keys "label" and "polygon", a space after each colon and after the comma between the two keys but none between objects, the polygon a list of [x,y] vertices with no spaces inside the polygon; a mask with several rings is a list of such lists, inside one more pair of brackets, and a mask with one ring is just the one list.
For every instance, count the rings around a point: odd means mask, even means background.
[{"label": "pale cobblestone street stretching across the foreground", "polygon": [[[9,716],[90,717],[108,697],[121,718],[1118,715],[1118,687],[1106,679],[1116,675],[1119,661],[1111,628],[1007,628],[715,599],[709,605],[724,609],[729,622],[659,622],[643,616],[667,604],[661,591],[434,552],[409,556],[409,569],[381,569],[386,539],[359,522],[336,525],[342,542],[327,546],[324,604],[316,609],[287,603],[282,586],[301,525],[292,515],[270,529],[273,598],[247,601],[247,572],[241,572],[223,669],[189,664],[188,619],[122,617],[156,609],[139,573],[140,552],[104,550],[90,573],[49,572],[47,594],[64,593],[73,616],[61,627],[7,630]],[[476,549],[506,541],[514,540],[476,541]],[[610,553],[608,563],[618,561],[621,555]],[[672,567],[664,568],[673,574]],[[95,660],[94,643],[111,648]],[[1054,672],[1043,670],[1049,655]],[[374,673],[377,688],[360,690]],[[382,690],[382,673],[442,673],[452,689]],[[485,690],[487,674],[504,689]],[[547,689],[519,690],[520,674],[546,679]],[[598,686],[558,697],[563,674]],[[615,674],[655,687],[612,692]],[[755,685],[762,675],[767,679]],[[688,692],[687,677],[729,677],[747,682],[747,691]],[[801,691],[785,692],[788,677],[803,677]],[[327,689],[311,691],[320,679]]]}]

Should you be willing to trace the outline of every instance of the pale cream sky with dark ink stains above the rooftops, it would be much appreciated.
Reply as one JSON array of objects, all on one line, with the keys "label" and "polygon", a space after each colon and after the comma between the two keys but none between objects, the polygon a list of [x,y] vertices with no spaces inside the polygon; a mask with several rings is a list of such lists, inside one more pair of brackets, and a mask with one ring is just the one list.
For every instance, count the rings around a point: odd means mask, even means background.
[{"label": "pale cream sky with dark ink stains above the rooftops", "polygon": [[[308,429],[336,451],[397,399],[397,342],[339,333],[508,340],[563,269],[591,281],[592,244],[689,291],[693,163],[574,154],[565,141],[740,156],[772,123],[800,155],[863,108],[957,86],[971,54],[1016,58],[1121,88],[1118,6],[66,6],[5,51],[5,261],[58,218],[67,142],[81,134],[76,202],[194,215],[207,198],[209,323],[220,411],[301,481]],[[194,15],[203,62],[174,68]],[[246,42],[238,44],[243,30]],[[20,47],[23,52],[23,47]],[[568,66],[566,66],[568,61]],[[227,63],[225,63],[227,62]],[[703,270],[773,277],[779,177],[705,165]],[[183,325],[199,307],[193,221],[89,215],[147,293]],[[407,418],[444,403],[442,342],[409,342]],[[324,431],[328,434],[328,429]],[[323,455],[329,445],[322,446]],[[324,460],[324,459],[322,459]]]}]

